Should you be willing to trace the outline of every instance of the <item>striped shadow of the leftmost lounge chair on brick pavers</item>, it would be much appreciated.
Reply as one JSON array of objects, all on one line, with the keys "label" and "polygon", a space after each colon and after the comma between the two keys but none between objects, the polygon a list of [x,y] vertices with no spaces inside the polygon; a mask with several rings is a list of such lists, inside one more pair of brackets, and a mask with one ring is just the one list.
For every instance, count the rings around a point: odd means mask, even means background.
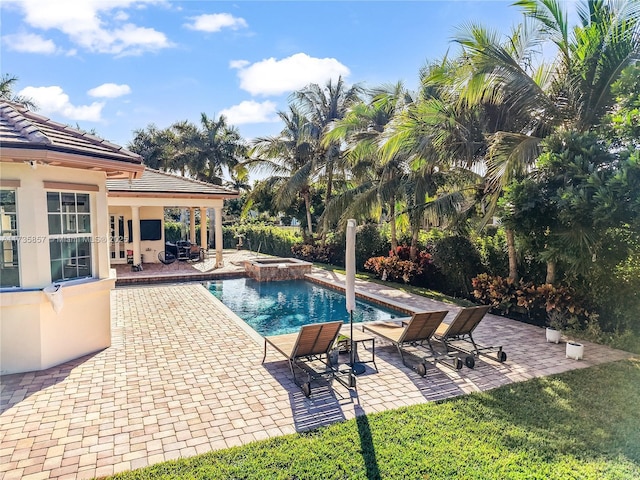
[{"label": "striped shadow of the leftmost lounge chair on brick pavers", "polygon": [[[297,432],[315,430],[346,419],[343,407],[357,398],[355,390],[349,390],[337,380],[317,378],[311,382],[311,395],[306,397],[295,384],[287,361],[266,362],[262,365],[288,392],[291,413]],[[304,373],[296,371],[299,381],[305,381]]]}]

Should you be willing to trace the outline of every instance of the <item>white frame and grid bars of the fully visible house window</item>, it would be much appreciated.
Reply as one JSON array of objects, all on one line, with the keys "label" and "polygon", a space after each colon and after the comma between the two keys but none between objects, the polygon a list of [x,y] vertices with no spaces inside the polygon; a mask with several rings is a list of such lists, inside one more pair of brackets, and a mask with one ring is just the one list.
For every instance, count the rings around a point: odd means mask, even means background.
[{"label": "white frame and grid bars of the fully visible house window", "polygon": [[[47,194],[47,227],[49,229],[49,271],[51,273],[51,281],[52,282],[68,282],[68,281],[72,281],[72,280],[79,280],[79,279],[85,279],[85,278],[93,278],[94,276],[94,255],[95,252],[93,250],[93,236],[92,236],[92,229],[93,229],[93,222],[94,222],[94,213],[92,212],[91,209],[91,204],[92,204],[92,195],[89,192],[86,191],[53,191],[53,190],[48,190],[46,192]],[[57,195],[58,196],[58,207],[59,210],[58,211],[50,211],[49,210],[49,196],[50,195]],[[70,210],[66,210],[64,209],[63,203],[62,203],[62,199],[64,195],[73,195],[74,196],[74,205],[73,205],[73,211]],[[78,212],[78,195],[83,195],[87,197],[87,205],[88,205],[88,212]],[[86,215],[88,216],[88,231],[87,232],[78,232],[78,227],[80,225],[79,222],[79,215]],[[51,233],[51,218],[52,217],[59,217],[59,225],[60,225],[60,232],[59,233]],[[65,233],[65,220],[70,220],[71,218],[74,219],[74,226],[73,226],[73,230],[75,230],[74,232],[66,232]],[[69,225],[69,223],[67,223],[67,226]],[[63,244],[66,242],[69,243],[74,243],[74,242],[78,242],[78,240],[82,240],[85,239],[86,243],[88,243],[89,245],[89,252],[88,255],[78,255],[78,252],[76,251],[75,255],[69,255],[69,256],[65,256],[64,255],[64,247]],[[53,251],[52,251],[52,245],[54,242],[60,243],[60,256],[54,257],[53,256]],[[83,267],[88,268],[88,273],[86,275],[80,275],[78,274],[78,269],[80,267],[80,260],[84,259],[85,260],[85,264],[83,265]],[[68,265],[67,267],[65,267],[64,262],[66,261],[71,261],[74,262],[74,264]],[[56,278],[54,277],[54,262],[61,262],[61,273],[62,273],[62,277],[61,278]],[[75,276],[66,276],[65,272],[66,272],[66,268],[68,268],[69,266],[71,267],[75,267],[76,268],[76,275]]]}]

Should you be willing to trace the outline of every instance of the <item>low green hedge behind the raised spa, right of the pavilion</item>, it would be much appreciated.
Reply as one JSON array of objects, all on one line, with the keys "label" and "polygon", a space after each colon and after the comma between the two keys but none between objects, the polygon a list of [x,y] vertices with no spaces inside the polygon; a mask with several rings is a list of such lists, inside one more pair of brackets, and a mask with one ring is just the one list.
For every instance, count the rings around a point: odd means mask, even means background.
[{"label": "low green hedge behind the raised spa, right of the pavilion", "polygon": [[243,248],[267,255],[278,257],[290,257],[291,247],[301,240],[297,229],[260,226],[239,225],[224,227],[222,229],[224,247],[236,248],[238,236],[242,235]]}]

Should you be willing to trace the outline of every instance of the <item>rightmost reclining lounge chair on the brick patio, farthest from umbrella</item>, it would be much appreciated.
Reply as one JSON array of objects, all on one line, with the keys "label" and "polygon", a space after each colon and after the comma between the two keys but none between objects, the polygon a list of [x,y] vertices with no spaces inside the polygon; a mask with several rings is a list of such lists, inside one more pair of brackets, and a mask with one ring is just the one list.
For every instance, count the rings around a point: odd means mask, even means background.
[{"label": "rightmost reclining lounge chair on the brick patio, farthest from umbrella", "polygon": [[473,339],[473,331],[490,308],[488,305],[463,308],[451,323],[443,323],[434,334],[434,338],[441,341],[448,352],[466,354],[465,365],[469,368],[475,366],[475,358],[480,355],[489,356],[490,353],[494,353],[499,362],[507,360],[507,354],[502,350],[502,346],[482,346]]}]

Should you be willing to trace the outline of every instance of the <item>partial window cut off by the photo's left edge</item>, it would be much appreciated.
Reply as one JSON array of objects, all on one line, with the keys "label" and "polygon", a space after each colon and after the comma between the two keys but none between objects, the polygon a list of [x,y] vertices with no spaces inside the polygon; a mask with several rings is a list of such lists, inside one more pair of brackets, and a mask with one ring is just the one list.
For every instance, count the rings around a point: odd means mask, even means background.
[{"label": "partial window cut off by the photo's left edge", "polygon": [[16,191],[0,190],[0,287],[20,286]]}]

